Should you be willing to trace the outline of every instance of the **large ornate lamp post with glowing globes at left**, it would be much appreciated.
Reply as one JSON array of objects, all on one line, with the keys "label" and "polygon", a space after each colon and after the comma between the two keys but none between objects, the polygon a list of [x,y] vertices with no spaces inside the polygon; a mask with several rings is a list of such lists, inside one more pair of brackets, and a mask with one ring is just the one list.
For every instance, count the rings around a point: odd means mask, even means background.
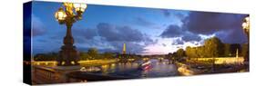
[{"label": "large ornate lamp post with glowing globes at left", "polygon": [[[64,7],[64,8],[63,8]],[[85,12],[86,4],[73,4],[73,3],[63,3],[63,7],[60,7],[56,13],[56,21],[59,24],[66,24],[67,33],[64,37],[59,51],[59,55],[56,59],[58,66],[72,66],[79,65],[79,55],[74,44],[74,39],[72,37],[71,27],[74,23],[82,19],[82,14]]]}]

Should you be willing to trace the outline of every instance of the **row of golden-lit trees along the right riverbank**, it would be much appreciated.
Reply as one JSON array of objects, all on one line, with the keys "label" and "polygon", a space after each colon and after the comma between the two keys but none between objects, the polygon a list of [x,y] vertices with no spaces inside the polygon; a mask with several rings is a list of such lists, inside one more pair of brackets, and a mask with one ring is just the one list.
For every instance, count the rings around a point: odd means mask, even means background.
[{"label": "row of golden-lit trees along the right riverbank", "polygon": [[248,43],[222,43],[219,38],[212,37],[206,39],[203,45],[198,47],[186,47],[185,50],[179,49],[175,53],[169,53],[173,58],[212,58],[212,57],[234,57],[236,52],[239,56],[245,56],[249,49]]}]

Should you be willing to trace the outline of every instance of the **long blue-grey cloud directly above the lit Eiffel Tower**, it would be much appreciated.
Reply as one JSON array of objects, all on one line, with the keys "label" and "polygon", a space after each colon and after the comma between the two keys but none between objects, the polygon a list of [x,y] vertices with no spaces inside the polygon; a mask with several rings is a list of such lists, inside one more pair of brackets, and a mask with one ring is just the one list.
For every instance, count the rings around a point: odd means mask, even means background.
[{"label": "long blue-grey cloud directly above the lit Eiffel Tower", "polygon": [[97,33],[109,42],[151,42],[152,40],[143,33],[130,26],[116,26],[112,24],[97,24]]}]

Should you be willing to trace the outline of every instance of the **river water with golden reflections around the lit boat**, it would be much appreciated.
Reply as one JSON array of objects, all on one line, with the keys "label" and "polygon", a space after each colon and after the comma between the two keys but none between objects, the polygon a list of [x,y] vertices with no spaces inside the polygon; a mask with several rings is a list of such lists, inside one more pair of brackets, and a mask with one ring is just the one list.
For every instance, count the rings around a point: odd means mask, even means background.
[{"label": "river water with golden reflections around the lit boat", "polygon": [[143,61],[105,64],[99,66],[102,70],[96,73],[128,78],[151,78],[178,75],[177,67],[169,63],[168,60],[159,61],[158,59],[150,59],[152,67],[148,70],[139,69],[139,64],[142,62]]}]

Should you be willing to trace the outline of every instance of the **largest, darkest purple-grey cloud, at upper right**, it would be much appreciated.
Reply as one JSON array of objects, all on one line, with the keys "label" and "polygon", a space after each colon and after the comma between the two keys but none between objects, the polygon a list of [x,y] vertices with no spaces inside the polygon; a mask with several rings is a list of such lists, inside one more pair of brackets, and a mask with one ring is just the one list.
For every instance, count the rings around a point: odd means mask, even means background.
[{"label": "largest, darkest purple-grey cloud, at upper right", "polygon": [[190,12],[183,23],[191,33],[212,34],[241,27],[242,17],[241,14]]}]

